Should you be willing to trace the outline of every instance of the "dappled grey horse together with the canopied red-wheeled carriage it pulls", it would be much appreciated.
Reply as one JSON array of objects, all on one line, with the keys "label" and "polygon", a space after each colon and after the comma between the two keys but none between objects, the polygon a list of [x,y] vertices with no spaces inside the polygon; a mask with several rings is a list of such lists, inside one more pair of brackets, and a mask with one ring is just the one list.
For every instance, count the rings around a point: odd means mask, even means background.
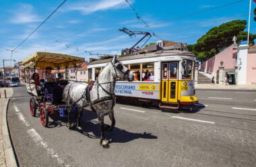
[{"label": "dappled grey horse together with the canopied red-wheeled carriage it pulls", "polygon": [[[24,68],[44,69],[51,68],[65,68],[65,76],[67,78],[67,68],[70,66],[77,66],[77,64],[84,62],[84,58],[78,56],[71,56],[67,54],[56,54],[49,52],[36,52],[22,62]],[[28,74],[30,76],[30,74]],[[69,114],[73,108],[77,109],[77,129],[79,127],[79,118],[84,107],[91,107],[92,111],[98,114],[100,122],[100,144],[102,146],[108,145],[105,140],[104,131],[112,131],[115,126],[115,117],[113,107],[115,106],[115,82],[117,78],[133,80],[133,73],[130,72],[121,62],[117,61],[115,56],[113,60],[108,62],[102,72],[100,72],[96,82],[92,84],[68,81],[63,87],[63,95],[61,103],[53,103],[55,101],[53,89],[57,85],[54,82],[45,82],[42,86],[36,86],[30,82],[26,82],[28,93],[33,97],[30,98],[30,113],[32,116],[36,115],[36,111],[40,113],[40,121],[44,127],[49,125],[49,115],[59,113],[63,107],[67,109],[67,127],[70,127]],[[42,80],[43,81],[43,80]],[[44,86],[43,86],[44,85]],[[51,90],[52,89],[52,90]],[[53,97],[53,98],[51,98]],[[104,127],[104,115],[108,115],[112,121],[111,125]]]}]

